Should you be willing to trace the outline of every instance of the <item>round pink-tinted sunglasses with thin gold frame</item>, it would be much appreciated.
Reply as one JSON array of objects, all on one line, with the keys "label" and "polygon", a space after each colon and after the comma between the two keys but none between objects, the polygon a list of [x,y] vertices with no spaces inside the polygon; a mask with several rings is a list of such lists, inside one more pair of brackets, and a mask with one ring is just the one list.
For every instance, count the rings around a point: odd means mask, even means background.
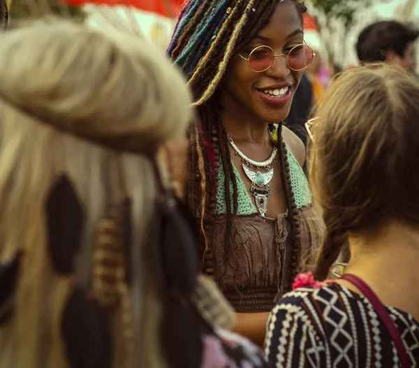
[{"label": "round pink-tinted sunglasses with thin gold frame", "polygon": [[258,46],[251,50],[249,57],[239,56],[247,61],[247,65],[252,71],[262,73],[267,71],[274,64],[275,58],[286,56],[288,68],[293,71],[302,71],[306,69],[312,62],[316,54],[313,49],[306,43],[295,45],[291,50],[284,54],[275,54],[274,50],[269,46]]}]

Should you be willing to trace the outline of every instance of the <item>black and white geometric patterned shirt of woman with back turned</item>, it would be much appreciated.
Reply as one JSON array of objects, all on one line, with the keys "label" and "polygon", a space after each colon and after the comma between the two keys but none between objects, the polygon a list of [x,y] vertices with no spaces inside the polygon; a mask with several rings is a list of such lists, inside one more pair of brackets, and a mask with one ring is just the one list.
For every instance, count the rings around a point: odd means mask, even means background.
[{"label": "black and white geometric patterned shirt of woman with back turned", "polygon": [[[411,367],[419,367],[419,323],[387,307],[402,334]],[[332,283],[282,297],[267,321],[270,367],[399,367],[390,334],[362,295]]]}]

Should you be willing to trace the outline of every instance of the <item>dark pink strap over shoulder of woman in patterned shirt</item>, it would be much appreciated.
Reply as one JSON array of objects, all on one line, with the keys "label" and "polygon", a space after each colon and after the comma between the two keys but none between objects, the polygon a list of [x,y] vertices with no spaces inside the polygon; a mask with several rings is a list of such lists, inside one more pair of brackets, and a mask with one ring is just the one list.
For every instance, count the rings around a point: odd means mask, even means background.
[{"label": "dark pink strap over shoulder of woman in patterned shirt", "polygon": [[344,276],[341,276],[341,280],[348,281],[352,285],[354,285],[362,294],[369,300],[369,302],[374,307],[376,313],[381,318],[381,321],[387,328],[388,332],[391,335],[392,341],[395,343],[395,346],[397,348],[397,354],[399,355],[399,360],[402,364],[403,368],[410,368],[410,359],[409,356],[406,353],[406,348],[404,348],[404,344],[402,341],[402,336],[397,329],[395,323],[390,318],[390,315],[388,314],[387,309],[385,309],[385,306],[380,302],[380,299],[376,296],[374,291],[372,291],[369,286],[362,281],[358,276],[351,275],[351,274],[344,274]]}]

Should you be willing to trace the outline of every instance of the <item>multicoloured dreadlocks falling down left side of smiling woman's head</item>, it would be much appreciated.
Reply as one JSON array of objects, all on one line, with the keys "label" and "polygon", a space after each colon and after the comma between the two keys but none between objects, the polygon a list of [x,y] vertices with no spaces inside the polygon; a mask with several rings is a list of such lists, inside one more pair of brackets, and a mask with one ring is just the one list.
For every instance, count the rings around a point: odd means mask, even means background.
[{"label": "multicoloured dreadlocks falling down left side of smiling woman's head", "polygon": [[[179,15],[167,50],[172,61],[184,71],[197,108],[198,124],[191,128],[189,135],[188,197],[200,219],[203,255],[211,243],[219,169],[223,170],[226,183],[233,183],[232,192],[230,185],[224,188],[228,229],[238,206],[237,183],[227,134],[221,124],[217,90],[230,59],[268,24],[282,1],[295,4],[302,20],[307,8],[300,0],[189,0]],[[227,249],[230,248],[229,237],[227,232]]]}]

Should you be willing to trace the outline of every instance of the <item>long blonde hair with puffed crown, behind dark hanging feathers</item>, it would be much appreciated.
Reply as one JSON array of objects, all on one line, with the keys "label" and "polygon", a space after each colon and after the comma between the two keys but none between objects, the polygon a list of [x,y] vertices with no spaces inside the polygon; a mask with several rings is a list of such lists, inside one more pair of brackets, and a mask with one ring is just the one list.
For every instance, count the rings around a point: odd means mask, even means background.
[{"label": "long blonde hair with puffed crown, behind dark hanging feathers", "polygon": [[[0,36],[0,261],[24,251],[13,317],[0,326],[1,368],[68,367],[61,315],[74,283],[89,288],[95,227],[121,190],[117,160],[133,201],[135,331],[133,356],[114,349],[112,367],[164,367],[144,257],[157,195],[149,157],[185,133],[191,96],[159,54],[138,38],[70,23]],[[47,250],[45,201],[63,174],[85,218],[75,279],[53,271]]]}]

